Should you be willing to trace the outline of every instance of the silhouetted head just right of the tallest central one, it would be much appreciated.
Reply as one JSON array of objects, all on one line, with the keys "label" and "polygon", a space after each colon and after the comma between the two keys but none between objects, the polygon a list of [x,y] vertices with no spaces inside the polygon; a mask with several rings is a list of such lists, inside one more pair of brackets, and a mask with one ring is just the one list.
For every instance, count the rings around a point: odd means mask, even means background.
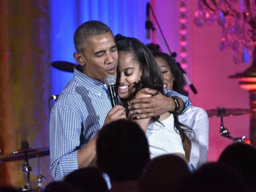
[{"label": "silhouetted head just right of the tallest central one", "polygon": [[180,157],[166,154],[151,160],[140,179],[142,192],[172,192],[177,184],[190,174]]}]

